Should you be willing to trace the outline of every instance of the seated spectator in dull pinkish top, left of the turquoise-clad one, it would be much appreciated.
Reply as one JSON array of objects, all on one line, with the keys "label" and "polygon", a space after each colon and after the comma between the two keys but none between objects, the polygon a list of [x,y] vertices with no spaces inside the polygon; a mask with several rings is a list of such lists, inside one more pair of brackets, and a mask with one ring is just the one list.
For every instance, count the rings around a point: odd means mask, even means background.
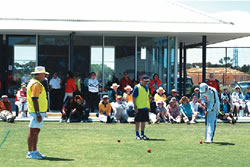
[{"label": "seated spectator in dull pinkish top, left of the turquoise-clad one", "polygon": [[181,123],[181,112],[175,97],[172,97],[167,105],[167,115],[171,123]]}]

